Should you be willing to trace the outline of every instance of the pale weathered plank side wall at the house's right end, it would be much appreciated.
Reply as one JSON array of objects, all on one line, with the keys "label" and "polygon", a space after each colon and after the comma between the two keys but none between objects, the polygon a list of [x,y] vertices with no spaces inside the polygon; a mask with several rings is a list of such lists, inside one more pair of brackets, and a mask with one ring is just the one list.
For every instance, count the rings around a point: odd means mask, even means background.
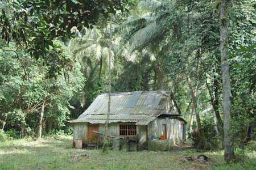
[{"label": "pale weathered plank side wall at the house's right end", "polygon": [[171,140],[174,144],[179,144],[184,141],[183,135],[183,121],[173,118],[156,118],[156,120],[148,124],[148,140],[152,136],[159,137],[163,135],[163,125],[166,125],[167,139]]}]

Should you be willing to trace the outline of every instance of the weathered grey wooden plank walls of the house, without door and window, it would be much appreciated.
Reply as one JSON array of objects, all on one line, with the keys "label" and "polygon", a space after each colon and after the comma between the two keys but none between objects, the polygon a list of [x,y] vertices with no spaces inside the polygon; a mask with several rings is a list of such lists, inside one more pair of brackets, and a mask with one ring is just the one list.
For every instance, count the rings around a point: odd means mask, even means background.
[{"label": "weathered grey wooden plank walls of the house, without door and window", "polygon": [[[109,135],[119,136],[119,125],[124,124],[129,125],[133,123],[111,123],[109,124]],[[160,137],[160,135],[163,135],[163,125],[166,125],[166,138],[171,140],[172,143],[179,144],[184,141],[184,122],[170,117],[156,118],[147,126],[137,125],[137,135],[129,138],[136,139],[138,141],[139,148],[143,150],[145,149],[147,142],[151,140],[152,136]],[[105,133],[104,124],[100,124],[99,131],[101,133]],[[85,147],[88,144],[87,133],[88,123],[73,124],[73,145],[75,143],[75,139],[82,139],[82,146]],[[100,138],[100,142],[102,142],[102,138]]]}]

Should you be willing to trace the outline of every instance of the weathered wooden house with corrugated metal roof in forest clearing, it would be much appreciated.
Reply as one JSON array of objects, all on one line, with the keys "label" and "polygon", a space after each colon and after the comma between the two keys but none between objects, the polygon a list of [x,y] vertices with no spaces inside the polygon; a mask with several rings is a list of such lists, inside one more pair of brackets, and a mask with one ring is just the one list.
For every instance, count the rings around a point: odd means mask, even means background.
[{"label": "weathered wooden house with corrugated metal roof in forest clearing", "polygon": [[[79,118],[69,121],[74,147],[102,142],[93,131],[104,133],[107,112],[108,94],[101,94]],[[185,121],[164,91],[117,92],[111,94],[109,135],[135,141],[141,149],[159,139],[179,144],[185,141]]]}]

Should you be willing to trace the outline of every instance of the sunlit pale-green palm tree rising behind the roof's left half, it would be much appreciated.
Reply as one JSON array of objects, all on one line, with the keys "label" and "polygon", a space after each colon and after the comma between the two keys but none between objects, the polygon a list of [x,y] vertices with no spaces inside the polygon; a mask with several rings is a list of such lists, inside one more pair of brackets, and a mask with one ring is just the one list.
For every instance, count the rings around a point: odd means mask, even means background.
[{"label": "sunlit pale-green palm tree rising behind the roof's left half", "polygon": [[88,105],[97,95],[91,92],[99,90],[100,84],[96,82],[102,79],[104,65],[108,65],[108,58],[113,56],[113,52],[109,49],[110,40],[105,38],[104,29],[94,27],[78,31],[76,27],[73,27],[71,31],[76,34],[76,37],[69,41],[69,50],[73,53],[75,61],[79,63],[86,78],[84,91],[80,94],[81,105],[84,106]]}]

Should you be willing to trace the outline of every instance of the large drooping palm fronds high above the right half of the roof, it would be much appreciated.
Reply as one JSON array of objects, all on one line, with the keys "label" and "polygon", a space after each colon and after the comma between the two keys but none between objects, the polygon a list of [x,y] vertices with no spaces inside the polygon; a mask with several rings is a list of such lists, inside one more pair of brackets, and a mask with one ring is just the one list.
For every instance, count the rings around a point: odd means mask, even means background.
[{"label": "large drooping palm fronds high above the right half of the roof", "polygon": [[146,0],[138,3],[132,16],[123,23],[131,50],[142,50],[163,40],[164,34],[170,30],[164,27],[167,15],[167,3],[158,0]]}]

